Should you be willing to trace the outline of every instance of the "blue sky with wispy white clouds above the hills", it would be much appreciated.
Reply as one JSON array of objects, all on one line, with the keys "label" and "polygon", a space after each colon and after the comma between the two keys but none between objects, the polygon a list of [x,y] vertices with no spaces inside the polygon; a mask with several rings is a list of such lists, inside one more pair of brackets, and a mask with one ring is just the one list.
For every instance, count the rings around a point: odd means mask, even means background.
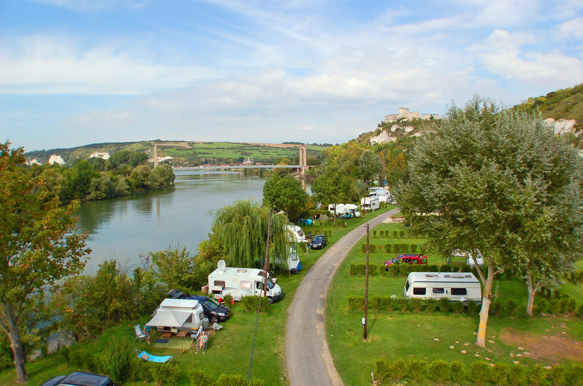
[{"label": "blue sky with wispy white clouds above the hills", "polygon": [[583,82],[580,0],[0,2],[0,141],[342,143]]}]

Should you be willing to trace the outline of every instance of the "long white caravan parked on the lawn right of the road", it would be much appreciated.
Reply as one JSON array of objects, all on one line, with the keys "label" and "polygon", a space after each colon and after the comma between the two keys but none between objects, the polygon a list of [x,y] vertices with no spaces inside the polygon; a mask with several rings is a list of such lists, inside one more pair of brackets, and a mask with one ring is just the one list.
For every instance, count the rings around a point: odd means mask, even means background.
[{"label": "long white caravan parked on the lawn right of the road", "polygon": [[403,296],[481,302],[482,286],[472,273],[412,272],[403,287]]}]

